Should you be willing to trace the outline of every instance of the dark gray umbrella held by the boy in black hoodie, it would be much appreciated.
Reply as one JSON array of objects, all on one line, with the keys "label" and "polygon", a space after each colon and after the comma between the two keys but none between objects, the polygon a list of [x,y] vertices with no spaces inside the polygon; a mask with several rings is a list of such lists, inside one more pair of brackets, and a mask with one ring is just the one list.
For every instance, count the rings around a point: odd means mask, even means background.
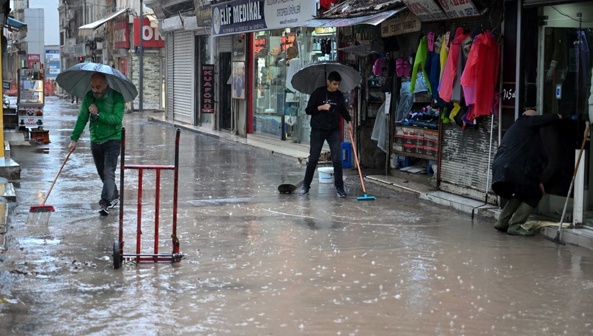
[{"label": "dark gray umbrella held by the boy in black hoodie", "polygon": [[340,82],[340,91],[342,92],[348,92],[358,87],[361,82],[361,74],[352,66],[323,61],[311,63],[297,71],[292,76],[292,87],[306,94],[312,94],[316,88],[327,85],[327,75],[332,71],[337,71],[342,76],[342,82]]}]

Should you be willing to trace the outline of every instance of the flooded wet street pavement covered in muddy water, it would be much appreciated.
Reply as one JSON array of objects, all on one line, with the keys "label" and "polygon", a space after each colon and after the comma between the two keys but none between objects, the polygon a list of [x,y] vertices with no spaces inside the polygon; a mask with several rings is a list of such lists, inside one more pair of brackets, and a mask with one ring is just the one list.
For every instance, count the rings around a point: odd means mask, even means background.
[{"label": "flooded wet street pavement covered in muddy water", "polygon": [[[75,105],[75,104],[74,104]],[[0,259],[0,334],[593,334],[593,252],[496,232],[490,219],[347,181],[347,199],[304,168],[181,132],[176,264],[113,270],[118,209],[100,217],[88,130],[47,201],[76,110],[49,98],[49,145],[12,146],[21,164],[9,249]],[[175,130],[125,115],[126,163],[172,164]],[[156,114],[154,114],[156,115]],[[119,171],[118,171],[119,176]],[[173,175],[161,177],[161,251],[170,251]],[[138,175],[126,172],[125,252],[135,251]],[[154,237],[154,173],[144,174],[143,251]],[[1,302],[2,300],[0,300]]]}]

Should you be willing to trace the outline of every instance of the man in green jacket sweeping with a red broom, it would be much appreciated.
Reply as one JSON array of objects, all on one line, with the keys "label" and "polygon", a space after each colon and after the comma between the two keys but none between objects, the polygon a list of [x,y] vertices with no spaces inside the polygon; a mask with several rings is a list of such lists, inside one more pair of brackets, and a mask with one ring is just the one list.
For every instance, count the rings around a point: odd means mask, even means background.
[{"label": "man in green jacket sweeping with a red broom", "polygon": [[76,149],[76,141],[87,126],[87,121],[90,121],[88,129],[91,132],[91,152],[103,181],[99,201],[99,213],[102,216],[109,215],[109,209],[119,203],[115,169],[122,140],[123,111],[123,96],[109,87],[105,75],[97,72],[91,76],[91,91],[82,98],[68,149],[71,152]]}]

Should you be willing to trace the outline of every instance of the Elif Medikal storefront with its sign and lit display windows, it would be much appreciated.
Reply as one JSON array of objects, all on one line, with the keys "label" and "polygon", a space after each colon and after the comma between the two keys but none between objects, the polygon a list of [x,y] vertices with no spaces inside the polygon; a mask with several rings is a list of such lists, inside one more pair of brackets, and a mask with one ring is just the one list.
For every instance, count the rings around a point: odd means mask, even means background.
[{"label": "Elif Medikal storefront with its sign and lit display windows", "polygon": [[308,141],[307,97],[292,88],[290,79],[313,60],[335,58],[331,52],[321,55],[321,42],[315,50],[313,40],[324,39],[336,50],[335,28],[315,32],[299,27],[315,14],[313,0],[235,0],[212,5],[221,129],[243,136]]}]

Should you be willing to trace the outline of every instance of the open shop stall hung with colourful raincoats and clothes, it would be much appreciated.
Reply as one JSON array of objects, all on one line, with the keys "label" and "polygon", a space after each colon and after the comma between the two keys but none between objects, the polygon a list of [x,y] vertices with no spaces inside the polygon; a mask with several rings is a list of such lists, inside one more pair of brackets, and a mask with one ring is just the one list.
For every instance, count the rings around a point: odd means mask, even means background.
[{"label": "open shop stall hung with colourful raincoats and clothes", "polygon": [[[458,28],[465,35],[463,56],[451,62],[463,63],[457,71],[460,76],[471,44],[480,34],[493,40],[496,56],[502,4],[493,3],[487,17],[480,17],[484,8],[471,2],[448,3],[447,8],[444,2],[404,4],[407,9],[394,9],[387,20],[376,18],[384,20],[377,27],[355,25],[352,34],[366,38],[356,38],[362,44],[345,48],[361,59],[364,74],[356,140],[359,158],[365,167],[385,168],[387,174],[426,174],[432,176],[428,183],[441,190],[495,203],[488,184],[499,139],[499,105],[494,104],[498,84],[490,83],[489,106],[475,117],[471,110],[476,103],[465,100],[460,79],[449,84],[461,94],[449,94],[446,100],[440,97],[438,87],[444,68],[441,58],[449,62],[448,50]],[[441,53],[443,48],[446,53]],[[500,63],[486,67],[492,68],[492,75],[498,73],[496,65]]]}]

